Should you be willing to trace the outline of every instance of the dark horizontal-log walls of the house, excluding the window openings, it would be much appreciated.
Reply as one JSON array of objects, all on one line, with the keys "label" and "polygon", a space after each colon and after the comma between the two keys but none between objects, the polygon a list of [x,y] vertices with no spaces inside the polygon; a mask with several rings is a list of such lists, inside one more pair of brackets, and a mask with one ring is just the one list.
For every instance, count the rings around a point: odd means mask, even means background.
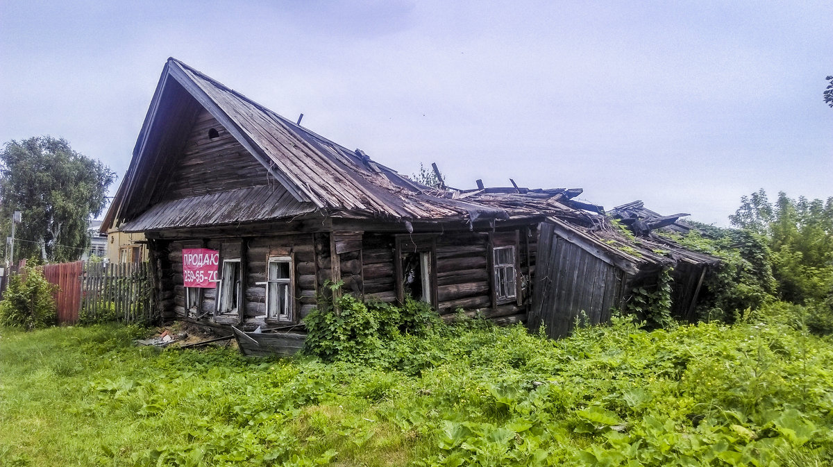
[{"label": "dark horizontal-log walls of the house, excluding the window openings", "polygon": [[[204,239],[178,239],[177,232],[168,232],[172,239],[152,241],[152,255],[161,276],[159,306],[166,319],[195,320],[213,324],[243,325],[266,323],[267,261],[269,256],[292,255],[294,265],[294,301],[296,321],[300,323],[317,305],[317,294],[327,291],[327,281],[334,277],[344,282],[342,291],[365,300],[397,302],[396,244],[397,236],[407,244],[409,234],[335,231],[286,235],[229,236],[210,238],[212,229],[202,231]],[[451,319],[458,308],[479,314],[499,324],[526,320],[531,301],[531,274],[535,269],[537,250],[535,226],[521,226],[504,231],[446,231],[421,234],[430,238],[433,248],[431,291],[437,311]],[[518,296],[496,302],[494,271],[491,265],[493,247],[516,246],[516,282]],[[186,289],[182,285],[182,249],[209,248],[220,251],[218,272],[222,276],[223,260],[242,260],[242,312],[239,319],[217,315],[217,289],[206,288],[200,293],[197,312],[186,309]],[[334,254],[334,252],[336,252]],[[334,262],[333,258],[337,260]],[[337,267],[333,267],[337,265]]]}]

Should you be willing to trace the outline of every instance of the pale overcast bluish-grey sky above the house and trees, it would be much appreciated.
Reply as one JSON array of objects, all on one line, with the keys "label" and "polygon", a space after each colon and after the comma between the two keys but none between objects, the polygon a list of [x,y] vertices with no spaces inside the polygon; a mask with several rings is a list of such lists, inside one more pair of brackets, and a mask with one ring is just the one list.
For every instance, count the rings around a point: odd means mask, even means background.
[{"label": "pale overcast bluish-grey sky above the house and trees", "polygon": [[64,137],[121,178],[170,56],[450,186],[721,226],[761,187],[833,196],[829,1],[0,0],[0,142]]}]

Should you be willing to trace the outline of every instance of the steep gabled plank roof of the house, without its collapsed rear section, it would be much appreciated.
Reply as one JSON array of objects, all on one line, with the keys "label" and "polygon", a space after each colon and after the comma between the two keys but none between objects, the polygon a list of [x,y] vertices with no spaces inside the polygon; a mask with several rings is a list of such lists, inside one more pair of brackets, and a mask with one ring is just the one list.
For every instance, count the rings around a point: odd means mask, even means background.
[{"label": "steep gabled plank roof of the house, without its collapsed rear section", "polygon": [[[166,164],[172,163],[169,160],[177,153],[177,144],[181,144],[177,134],[187,132],[188,117],[203,108],[262,164],[264,173],[280,184],[277,189],[282,193],[243,198],[229,193],[157,202],[153,193],[163,185],[160,174],[170,170],[171,166]],[[575,196],[578,192],[581,191],[550,190],[546,196],[561,194],[564,198],[563,195]],[[530,201],[546,201],[540,199],[541,193],[536,196]],[[220,198],[236,209],[213,206]],[[372,161],[363,152],[351,151],[300,127],[185,63],[169,58],[139,133],[127,175],[107,212],[102,230],[112,226],[120,226],[122,231],[147,231],[217,225],[278,219],[313,211],[382,220],[457,219],[469,223],[543,214],[537,211],[540,206],[536,204],[526,209],[512,208],[503,202],[506,200],[492,198],[479,194],[454,196],[452,191],[422,186]],[[256,200],[261,204],[250,206]],[[564,206],[556,203],[551,207],[560,211]]]}]

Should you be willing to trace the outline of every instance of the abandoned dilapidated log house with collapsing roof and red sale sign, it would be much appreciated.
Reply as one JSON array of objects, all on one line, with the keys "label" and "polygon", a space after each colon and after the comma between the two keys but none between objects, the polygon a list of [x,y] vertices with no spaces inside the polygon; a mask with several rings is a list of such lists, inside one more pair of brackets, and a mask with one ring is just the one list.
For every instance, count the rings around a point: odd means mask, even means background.
[{"label": "abandoned dilapidated log house with collapsing roof and red sale sign", "polygon": [[691,307],[713,261],[617,248],[626,240],[580,193],[423,186],[170,58],[102,230],[142,232],[159,313],[205,325],[302,335],[317,292],[343,281],[364,299],[562,335],[681,262],[694,269],[677,301]]}]

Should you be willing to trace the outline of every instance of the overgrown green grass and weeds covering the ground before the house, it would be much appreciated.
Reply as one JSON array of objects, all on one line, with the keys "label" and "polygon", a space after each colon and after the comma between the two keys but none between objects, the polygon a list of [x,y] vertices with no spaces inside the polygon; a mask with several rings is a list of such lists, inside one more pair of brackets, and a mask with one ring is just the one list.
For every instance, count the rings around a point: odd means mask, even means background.
[{"label": "overgrown green grass and weeds covering the ground before the house", "polygon": [[0,329],[0,465],[830,465],[833,343],[780,320],[436,325],[370,365]]}]

